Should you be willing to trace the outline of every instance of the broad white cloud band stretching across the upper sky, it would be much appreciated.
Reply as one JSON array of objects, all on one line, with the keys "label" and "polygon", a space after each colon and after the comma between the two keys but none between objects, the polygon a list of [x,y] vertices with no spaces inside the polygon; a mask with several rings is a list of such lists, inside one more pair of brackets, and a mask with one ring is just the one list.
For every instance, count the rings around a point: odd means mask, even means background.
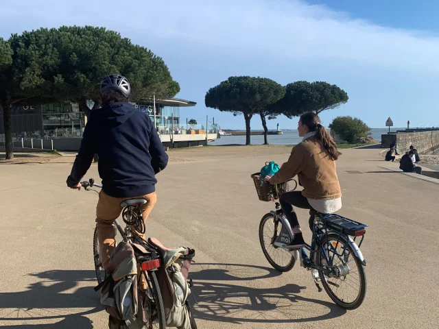
[{"label": "broad white cloud band stretching across the upper sky", "polygon": [[[104,25],[130,37],[195,42],[278,58],[351,60],[439,71],[439,38],[351,19],[320,5],[288,0],[64,1],[0,4],[1,30],[23,26]],[[137,38],[138,39],[138,38]]]}]

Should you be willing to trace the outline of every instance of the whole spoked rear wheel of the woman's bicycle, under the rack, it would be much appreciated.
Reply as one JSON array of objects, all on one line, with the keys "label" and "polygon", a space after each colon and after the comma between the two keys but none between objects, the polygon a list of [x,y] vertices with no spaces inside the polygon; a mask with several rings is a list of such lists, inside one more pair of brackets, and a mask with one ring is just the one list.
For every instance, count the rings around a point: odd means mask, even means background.
[{"label": "whole spoked rear wheel of the woman's bicycle, under the rack", "polygon": [[[338,241],[338,243],[337,243]],[[319,271],[320,279],[324,290],[335,304],[354,310],[358,308],[366,297],[366,271],[360,260],[355,256],[351,245],[348,244],[344,236],[336,233],[329,233],[322,236],[322,247],[327,252],[328,258],[333,258],[332,268],[336,271],[348,273],[334,278],[325,276],[323,271]],[[323,253],[317,260],[318,265],[328,267]]]}]

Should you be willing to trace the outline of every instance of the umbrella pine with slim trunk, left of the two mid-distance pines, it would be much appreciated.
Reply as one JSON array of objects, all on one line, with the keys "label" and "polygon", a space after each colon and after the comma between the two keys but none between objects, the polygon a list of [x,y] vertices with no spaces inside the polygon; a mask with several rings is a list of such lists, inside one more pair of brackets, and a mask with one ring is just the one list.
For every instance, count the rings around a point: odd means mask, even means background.
[{"label": "umbrella pine with slim trunk, left of the two mid-distance pines", "polygon": [[229,77],[210,88],[204,102],[208,108],[216,108],[234,115],[244,114],[246,120],[246,145],[250,145],[250,120],[268,105],[285,94],[285,89],[264,77]]}]

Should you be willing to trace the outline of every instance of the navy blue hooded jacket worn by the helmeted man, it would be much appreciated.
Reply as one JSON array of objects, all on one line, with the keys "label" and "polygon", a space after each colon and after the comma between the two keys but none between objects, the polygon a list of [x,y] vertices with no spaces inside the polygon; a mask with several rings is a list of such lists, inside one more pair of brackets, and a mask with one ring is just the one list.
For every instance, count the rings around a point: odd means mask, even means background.
[{"label": "navy blue hooded jacket worn by the helmeted man", "polygon": [[91,111],[67,186],[82,180],[94,154],[99,156],[102,189],[111,197],[154,192],[155,174],[165,169],[168,160],[150,117],[130,103],[112,103]]}]

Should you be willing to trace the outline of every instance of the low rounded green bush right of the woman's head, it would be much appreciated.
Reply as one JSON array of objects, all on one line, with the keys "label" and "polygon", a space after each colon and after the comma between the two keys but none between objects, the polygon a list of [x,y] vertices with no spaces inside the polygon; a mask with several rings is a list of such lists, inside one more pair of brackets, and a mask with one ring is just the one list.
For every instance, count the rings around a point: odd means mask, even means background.
[{"label": "low rounded green bush right of the woman's head", "polygon": [[348,143],[370,136],[370,127],[358,118],[336,117],[329,127]]}]

